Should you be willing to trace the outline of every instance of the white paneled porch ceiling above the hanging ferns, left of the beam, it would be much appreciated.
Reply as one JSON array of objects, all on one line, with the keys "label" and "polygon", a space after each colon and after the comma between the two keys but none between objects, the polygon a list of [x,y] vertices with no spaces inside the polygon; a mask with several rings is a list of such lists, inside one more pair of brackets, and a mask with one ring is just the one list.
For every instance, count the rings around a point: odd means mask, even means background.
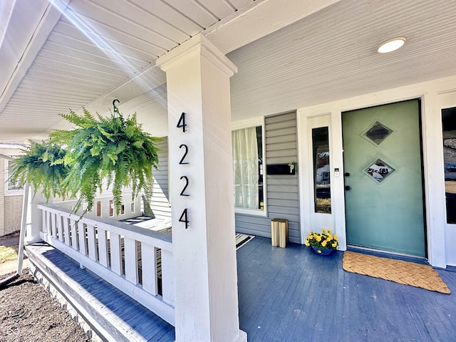
[{"label": "white paneled porch ceiling above the hanging ferns, left of the beam", "polygon": [[112,108],[113,96],[123,101],[161,86],[158,56],[253,2],[16,0],[0,46],[0,139],[46,137],[64,125],[58,113],[68,108],[110,93]]}]

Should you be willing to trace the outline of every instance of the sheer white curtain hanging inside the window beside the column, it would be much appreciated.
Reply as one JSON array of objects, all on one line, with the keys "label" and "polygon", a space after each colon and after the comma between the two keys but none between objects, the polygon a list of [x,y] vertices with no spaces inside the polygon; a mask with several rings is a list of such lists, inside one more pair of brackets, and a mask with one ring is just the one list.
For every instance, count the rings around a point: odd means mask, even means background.
[{"label": "sheer white curtain hanging inside the window beside the column", "polygon": [[232,132],[234,207],[259,208],[256,128]]}]

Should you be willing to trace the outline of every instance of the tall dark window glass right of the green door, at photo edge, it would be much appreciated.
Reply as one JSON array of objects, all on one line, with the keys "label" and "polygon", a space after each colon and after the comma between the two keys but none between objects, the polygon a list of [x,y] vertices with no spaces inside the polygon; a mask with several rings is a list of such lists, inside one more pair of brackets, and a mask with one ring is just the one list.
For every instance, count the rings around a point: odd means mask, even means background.
[{"label": "tall dark window glass right of the green door, at photo edge", "polygon": [[447,223],[456,223],[456,107],[442,109]]}]

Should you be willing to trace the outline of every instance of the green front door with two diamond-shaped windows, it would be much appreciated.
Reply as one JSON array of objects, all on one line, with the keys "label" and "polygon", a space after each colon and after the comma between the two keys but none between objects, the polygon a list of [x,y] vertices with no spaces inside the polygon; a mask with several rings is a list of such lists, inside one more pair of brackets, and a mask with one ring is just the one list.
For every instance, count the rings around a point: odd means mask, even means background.
[{"label": "green front door with two diamond-shaped windows", "polygon": [[420,100],[342,113],[347,243],[425,257]]}]

